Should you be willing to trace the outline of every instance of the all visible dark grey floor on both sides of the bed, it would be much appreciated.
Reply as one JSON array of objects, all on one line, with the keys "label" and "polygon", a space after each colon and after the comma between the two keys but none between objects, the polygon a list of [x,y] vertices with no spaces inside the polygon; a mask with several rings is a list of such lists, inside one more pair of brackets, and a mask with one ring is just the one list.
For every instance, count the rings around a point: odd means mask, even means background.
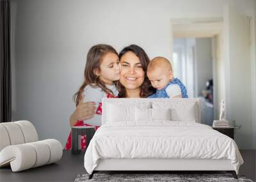
[{"label": "all visible dark grey floor on both sides of the bed", "polygon": [[[239,174],[243,174],[246,178],[256,181],[256,151],[241,150],[240,152],[243,156],[244,164],[241,165]],[[86,173],[83,166],[83,158],[83,153],[71,155],[70,151],[63,151],[63,157],[57,163],[22,172],[12,172],[10,167],[4,167],[0,169],[0,181],[74,181],[78,174]]]}]

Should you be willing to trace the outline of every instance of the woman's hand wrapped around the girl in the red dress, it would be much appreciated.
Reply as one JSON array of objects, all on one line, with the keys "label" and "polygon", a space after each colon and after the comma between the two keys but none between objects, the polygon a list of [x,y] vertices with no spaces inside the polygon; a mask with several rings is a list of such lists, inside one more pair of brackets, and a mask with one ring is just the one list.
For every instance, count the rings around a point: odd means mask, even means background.
[{"label": "woman's hand wrapped around the girl in the red dress", "polygon": [[95,103],[94,102],[83,102],[84,96],[82,94],[81,100],[78,103],[76,110],[70,116],[69,123],[70,126],[76,125],[77,121],[82,121],[90,119],[95,113]]}]

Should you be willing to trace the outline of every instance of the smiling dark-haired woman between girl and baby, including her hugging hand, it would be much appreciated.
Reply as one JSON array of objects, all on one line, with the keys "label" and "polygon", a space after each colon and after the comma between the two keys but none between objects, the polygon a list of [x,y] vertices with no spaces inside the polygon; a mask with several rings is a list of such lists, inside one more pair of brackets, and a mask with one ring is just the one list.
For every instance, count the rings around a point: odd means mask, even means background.
[{"label": "smiling dark-haired woman between girl and baby, including her hugging hand", "polygon": [[[146,52],[138,45],[129,45],[118,56],[120,59],[118,96],[120,98],[147,98],[152,95],[156,90],[146,76],[150,61]],[[76,125],[78,121],[92,118],[94,113],[95,104],[93,102],[83,103],[83,97],[81,97],[81,102],[70,116],[70,126]]]}]

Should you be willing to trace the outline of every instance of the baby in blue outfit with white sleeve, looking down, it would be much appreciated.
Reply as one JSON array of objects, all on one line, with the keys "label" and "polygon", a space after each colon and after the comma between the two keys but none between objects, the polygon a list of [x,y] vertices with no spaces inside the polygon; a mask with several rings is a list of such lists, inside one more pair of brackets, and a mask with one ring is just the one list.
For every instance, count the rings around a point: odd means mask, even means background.
[{"label": "baby in blue outfit with white sleeve, looking down", "polygon": [[186,87],[179,79],[173,78],[172,65],[165,57],[154,57],[150,61],[147,76],[157,89],[148,98],[188,98]]}]

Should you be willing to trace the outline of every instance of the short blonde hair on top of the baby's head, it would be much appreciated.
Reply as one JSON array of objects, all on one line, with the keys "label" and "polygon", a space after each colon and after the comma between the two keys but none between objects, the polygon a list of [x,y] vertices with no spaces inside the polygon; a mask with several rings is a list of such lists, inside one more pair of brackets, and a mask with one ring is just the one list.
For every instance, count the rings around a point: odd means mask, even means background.
[{"label": "short blonde hair on top of the baby's head", "polygon": [[172,72],[172,64],[165,57],[154,57],[148,64],[148,72],[152,72],[156,68],[168,69]]}]

